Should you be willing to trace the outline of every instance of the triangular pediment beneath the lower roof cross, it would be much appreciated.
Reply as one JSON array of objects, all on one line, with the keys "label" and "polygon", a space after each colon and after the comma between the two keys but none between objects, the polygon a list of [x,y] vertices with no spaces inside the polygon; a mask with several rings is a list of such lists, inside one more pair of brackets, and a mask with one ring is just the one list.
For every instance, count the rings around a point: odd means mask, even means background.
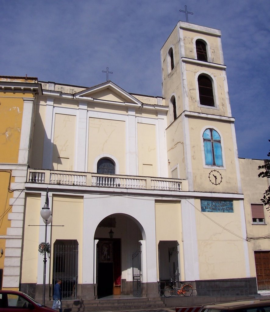
[{"label": "triangular pediment beneath the lower roof cross", "polygon": [[118,85],[115,85],[112,81],[106,81],[100,85],[82,90],[76,93],[75,97],[141,105],[138,99],[121,89]]}]

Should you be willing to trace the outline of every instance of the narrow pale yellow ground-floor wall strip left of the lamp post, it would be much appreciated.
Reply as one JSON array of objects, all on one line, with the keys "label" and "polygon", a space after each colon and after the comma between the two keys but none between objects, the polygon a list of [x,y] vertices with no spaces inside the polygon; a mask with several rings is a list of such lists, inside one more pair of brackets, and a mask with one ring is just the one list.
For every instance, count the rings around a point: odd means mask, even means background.
[{"label": "narrow pale yellow ground-floor wall strip left of the lamp post", "polygon": [[[25,227],[22,253],[22,283],[37,283],[40,224],[40,195],[26,194]],[[50,227],[48,228],[50,229]]]}]

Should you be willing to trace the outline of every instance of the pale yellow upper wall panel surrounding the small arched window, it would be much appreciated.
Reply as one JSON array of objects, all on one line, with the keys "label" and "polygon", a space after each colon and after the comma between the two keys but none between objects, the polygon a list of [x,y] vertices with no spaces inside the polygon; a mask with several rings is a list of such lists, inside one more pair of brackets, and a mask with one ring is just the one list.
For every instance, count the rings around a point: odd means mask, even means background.
[{"label": "pale yellow upper wall panel surrounding the small arched window", "polygon": [[96,172],[94,161],[101,154],[114,156],[125,174],[125,122],[89,118],[88,171]]}]

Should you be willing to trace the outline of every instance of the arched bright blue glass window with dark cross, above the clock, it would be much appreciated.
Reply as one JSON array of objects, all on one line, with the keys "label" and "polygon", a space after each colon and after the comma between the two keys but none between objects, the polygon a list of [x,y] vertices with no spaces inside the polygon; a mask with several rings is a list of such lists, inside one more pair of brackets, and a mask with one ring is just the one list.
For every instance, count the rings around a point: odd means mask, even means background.
[{"label": "arched bright blue glass window with dark cross, above the clock", "polygon": [[214,129],[206,129],[203,134],[205,164],[223,166],[221,138]]}]

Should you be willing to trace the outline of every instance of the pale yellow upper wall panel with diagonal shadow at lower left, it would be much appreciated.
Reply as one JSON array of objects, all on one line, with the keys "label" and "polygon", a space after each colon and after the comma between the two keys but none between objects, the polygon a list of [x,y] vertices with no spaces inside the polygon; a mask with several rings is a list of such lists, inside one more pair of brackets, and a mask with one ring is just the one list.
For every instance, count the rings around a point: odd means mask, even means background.
[{"label": "pale yellow upper wall panel with diagonal shadow at lower left", "polygon": [[53,168],[73,170],[76,116],[55,114]]}]

